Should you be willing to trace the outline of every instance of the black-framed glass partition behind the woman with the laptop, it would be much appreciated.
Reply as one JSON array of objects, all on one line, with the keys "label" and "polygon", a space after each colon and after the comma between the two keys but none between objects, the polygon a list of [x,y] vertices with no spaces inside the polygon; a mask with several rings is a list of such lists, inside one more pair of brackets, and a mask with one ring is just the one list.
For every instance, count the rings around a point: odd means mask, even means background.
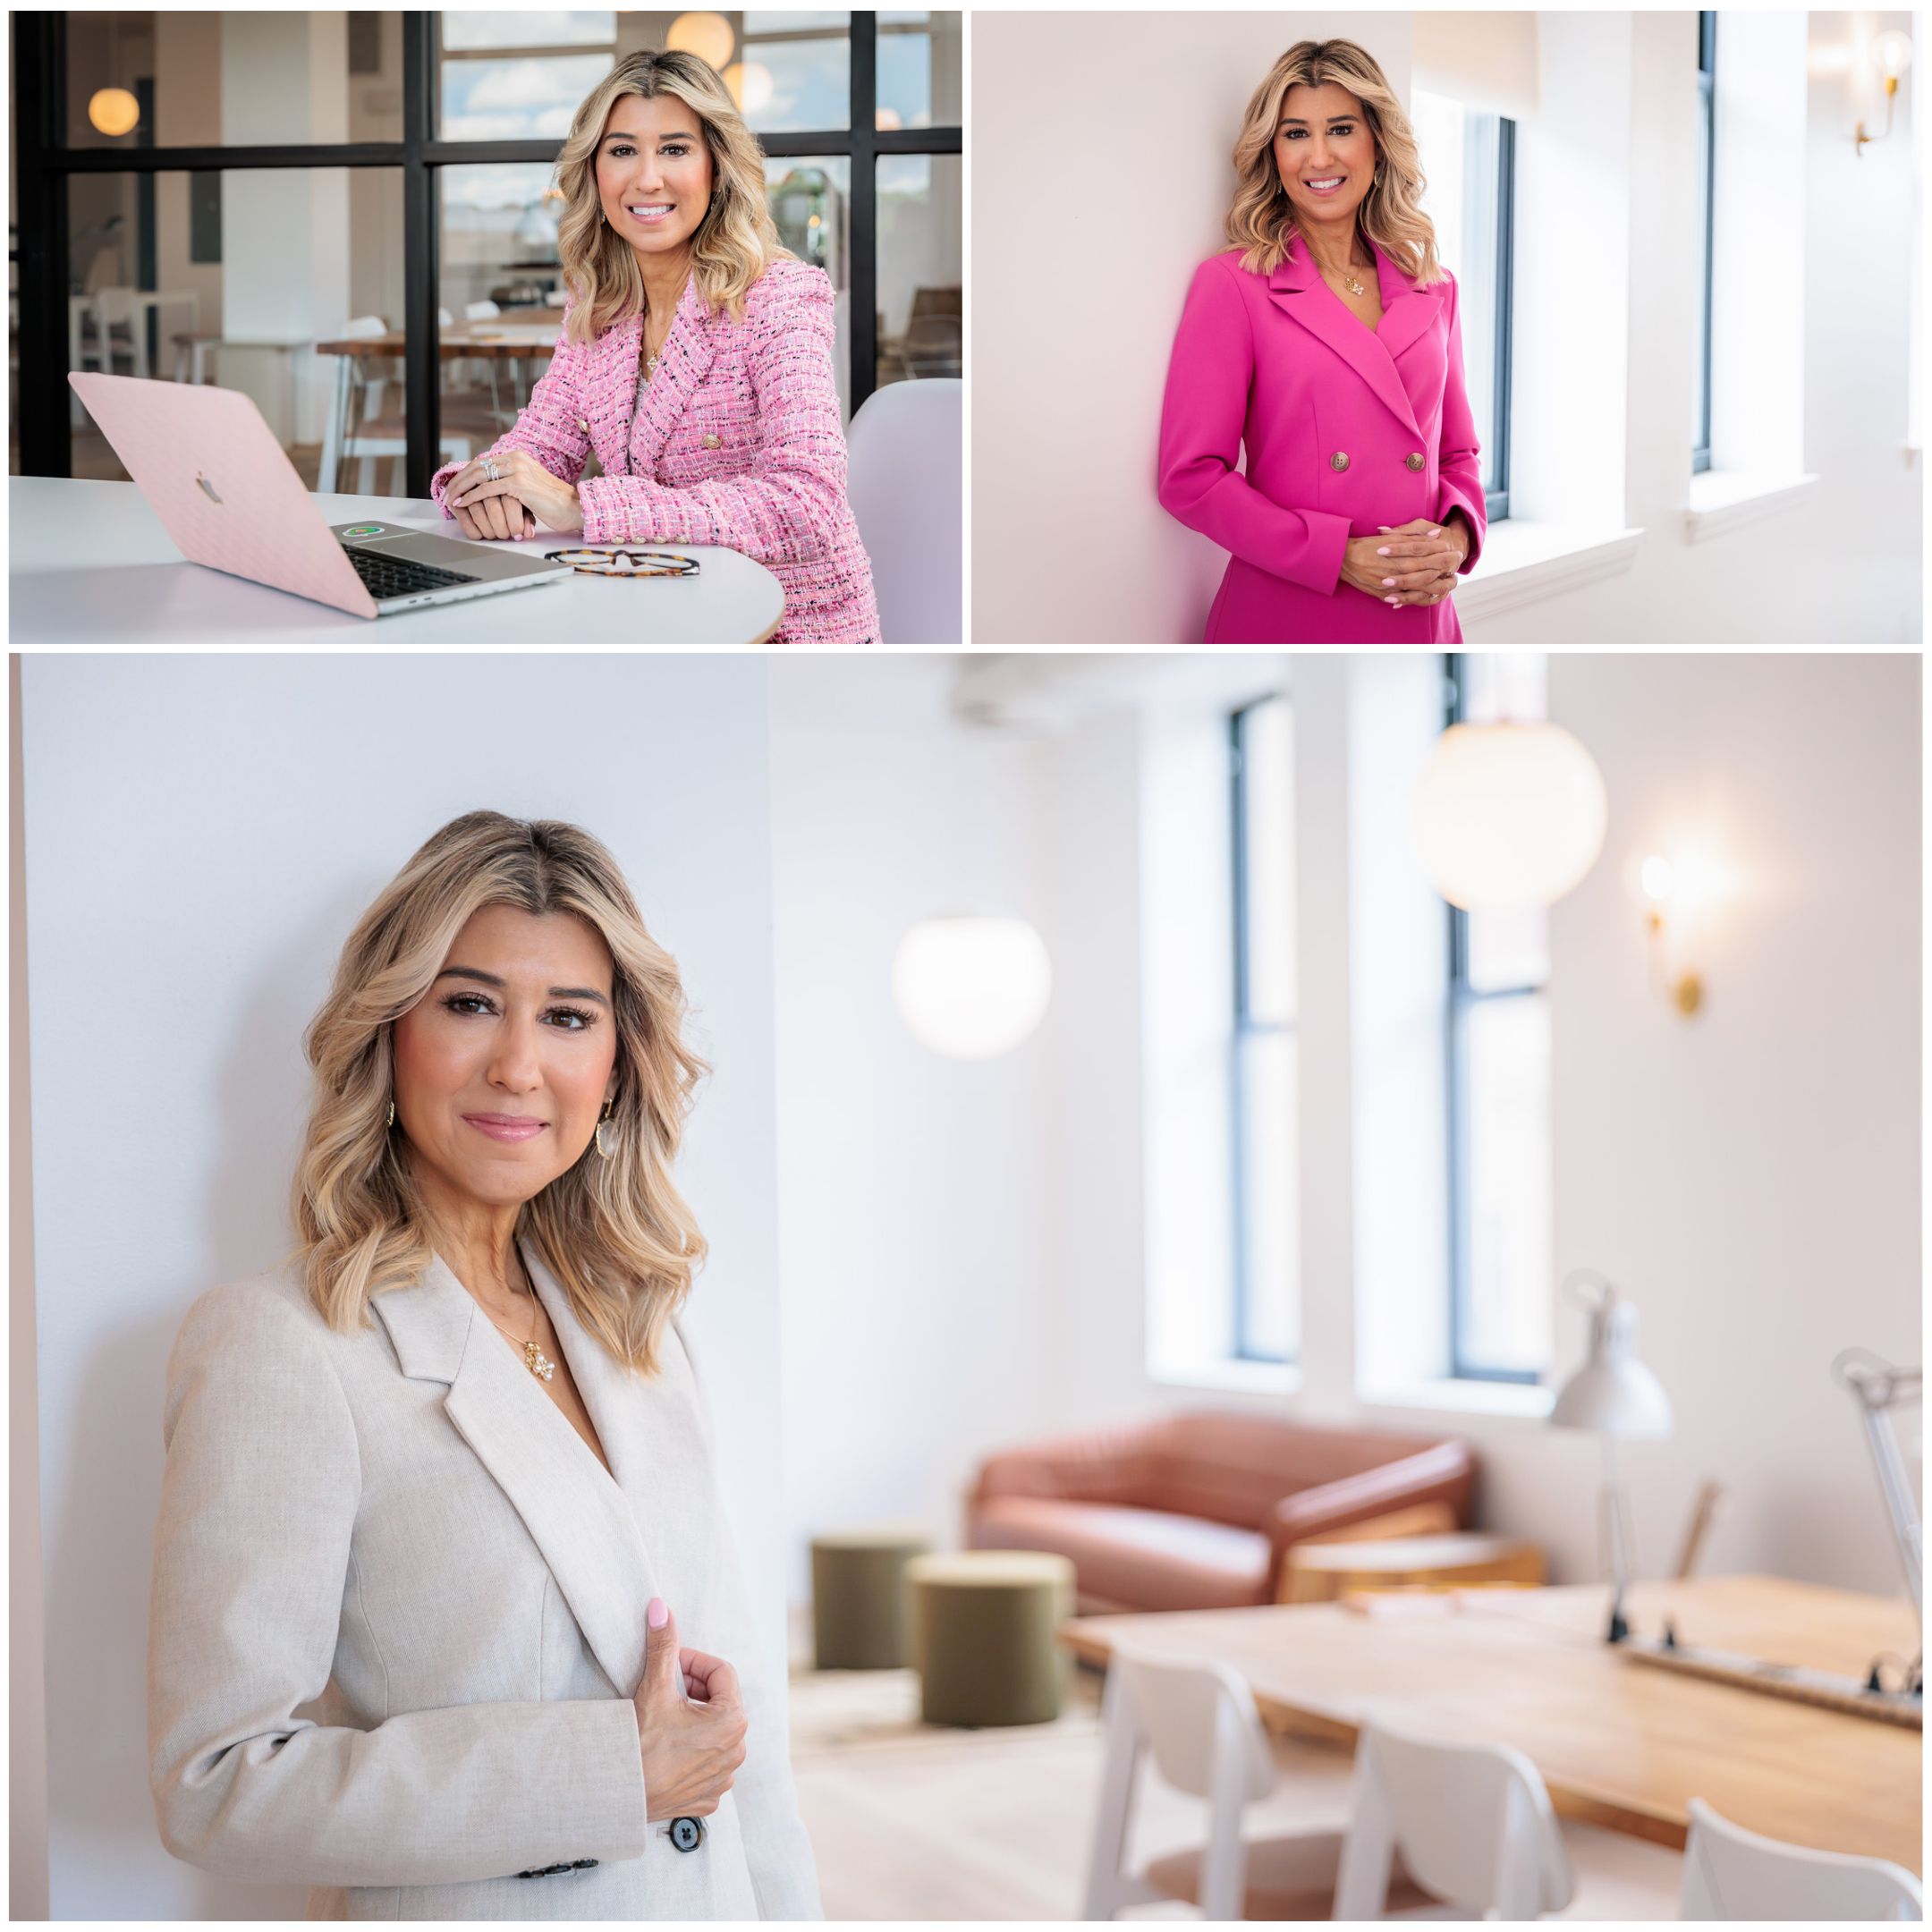
[{"label": "black-framed glass partition behind the woman with the laptop", "polygon": [[763,143],[781,238],[837,290],[846,412],[962,373],[958,14],[12,25],[15,475],[120,475],[41,379],[87,367],[245,388],[311,489],[425,495],[549,361],[556,147],[647,46],[711,60]]}]

